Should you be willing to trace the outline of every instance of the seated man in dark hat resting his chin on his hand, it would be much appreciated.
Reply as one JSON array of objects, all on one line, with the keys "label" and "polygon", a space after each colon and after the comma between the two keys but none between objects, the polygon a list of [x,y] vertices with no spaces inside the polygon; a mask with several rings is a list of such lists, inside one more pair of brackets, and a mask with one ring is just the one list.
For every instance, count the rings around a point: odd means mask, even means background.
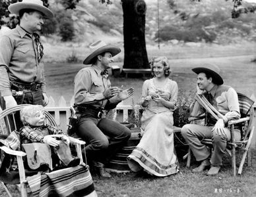
[{"label": "seated man in dark hat resting his chin on his hand", "polygon": [[[222,165],[222,157],[226,150],[227,141],[230,141],[230,129],[227,127],[229,120],[240,118],[238,94],[236,91],[223,84],[220,69],[213,64],[205,64],[199,68],[193,68],[197,76],[197,86],[207,100],[212,104],[222,118],[215,120],[210,113],[207,114],[207,125],[187,124],[181,128],[181,134],[189,144],[197,161],[201,162],[199,167],[193,169],[194,173],[202,172],[210,167],[207,175],[217,175]],[[205,109],[197,101],[193,105],[195,116],[203,114]],[[203,139],[212,139],[213,152],[201,143]],[[235,129],[234,139],[241,139],[239,129]]]}]

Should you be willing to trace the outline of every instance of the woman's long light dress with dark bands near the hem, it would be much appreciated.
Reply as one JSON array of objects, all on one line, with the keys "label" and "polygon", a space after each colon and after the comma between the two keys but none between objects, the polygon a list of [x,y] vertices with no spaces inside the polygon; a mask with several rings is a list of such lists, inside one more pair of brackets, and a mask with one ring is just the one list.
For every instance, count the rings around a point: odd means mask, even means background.
[{"label": "woman's long light dress with dark bands near the hem", "polygon": [[[177,83],[168,79],[164,87],[157,88],[153,79],[144,81],[142,97],[164,93],[166,100],[176,104]],[[143,170],[164,177],[179,171],[174,151],[173,112],[161,103],[151,100],[141,118],[143,137],[133,152],[127,157],[132,171]]]}]

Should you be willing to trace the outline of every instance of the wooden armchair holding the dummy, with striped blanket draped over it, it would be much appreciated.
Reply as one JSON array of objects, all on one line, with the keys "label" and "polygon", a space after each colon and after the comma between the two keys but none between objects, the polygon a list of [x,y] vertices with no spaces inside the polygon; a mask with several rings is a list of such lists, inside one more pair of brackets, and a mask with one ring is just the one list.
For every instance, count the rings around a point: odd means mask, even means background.
[{"label": "wooden armchair holding the dummy, with striped blanket draped over it", "polygon": [[[24,108],[24,106],[28,106],[28,104],[21,104],[18,106],[15,106],[13,108],[8,108],[6,110],[3,110],[0,113],[0,134],[1,135],[10,135],[10,133],[15,130],[18,131],[20,125],[20,121],[17,120],[17,118],[19,118],[19,111]],[[53,117],[48,113],[45,112],[46,115],[46,124],[48,125],[53,125],[53,126],[57,126],[57,124],[55,123],[55,120],[53,119]],[[88,171],[88,165],[83,163],[82,160],[82,151],[81,151],[81,145],[84,145],[85,142],[84,141],[79,141],[78,139],[71,139],[71,142],[73,144],[75,144],[75,149],[77,150],[77,156],[79,156],[80,158],[80,165],[76,166],[76,167],[68,167],[65,169],[59,169],[56,171],[53,171],[52,173],[55,173],[55,175],[57,174],[62,174],[62,175],[66,175],[66,171],[69,171],[70,176],[65,178],[65,180],[63,180],[63,182],[68,183],[71,188],[71,190],[77,189],[79,190],[79,188],[83,188],[83,190],[80,190],[80,192],[83,192],[82,194],[84,196],[88,195],[88,196],[97,196],[96,192],[94,190],[94,185],[93,185],[93,181],[92,181],[92,177],[90,175],[90,172]],[[27,176],[27,172],[24,169],[24,164],[23,164],[23,159],[22,157],[26,156],[25,152],[22,151],[18,151],[18,150],[13,150],[7,146],[0,146],[0,149],[4,152],[4,154],[6,155],[11,155],[11,156],[15,156],[16,157],[16,162],[18,164],[18,173],[17,175],[19,176],[19,183],[17,184],[18,186],[18,190],[20,191],[20,196],[27,196],[29,194],[29,192],[31,192],[30,187],[28,186],[28,176]],[[1,152],[1,155],[3,155],[3,152]],[[1,164],[1,162],[0,162]],[[71,169],[73,168],[73,169]],[[73,174],[76,173],[76,174]],[[51,174],[51,173],[49,173]],[[49,175],[44,175],[46,178]],[[72,177],[76,177],[77,178],[72,178]],[[79,177],[80,176],[80,179]],[[79,181],[80,183],[79,183]],[[9,196],[12,196],[11,191],[9,190],[8,183],[6,183],[5,179],[1,179],[0,180],[3,187],[5,188],[7,194]],[[14,184],[16,185],[16,184]],[[84,185],[86,185],[87,187],[84,188]],[[68,190],[67,188],[63,188],[64,190]],[[80,186],[80,187],[79,187]],[[46,188],[47,189],[47,188]],[[68,191],[70,192],[70,191]],[[33,193],[34,194],[34,193]],[[38,193],[39,194],[39,193]],[[41,193],[40,193],[41,194]]]}]

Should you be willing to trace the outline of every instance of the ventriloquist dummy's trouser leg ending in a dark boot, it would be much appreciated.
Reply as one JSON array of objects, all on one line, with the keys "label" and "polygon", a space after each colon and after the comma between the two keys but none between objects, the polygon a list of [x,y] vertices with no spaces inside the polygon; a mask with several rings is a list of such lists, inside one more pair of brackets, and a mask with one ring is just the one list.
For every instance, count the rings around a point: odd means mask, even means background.
[{"label": "ventriloquist dummy's trouser leg ending in a dark boot", "polygon": [[61,162],[63,162],[67,167],[74,167],[80,164],[80,158],[72,157],[69,145],[65,142],[60,141],[59,146],[55,147],[55,150],[57,150],[56,152],[59,160],[61,160]]}]

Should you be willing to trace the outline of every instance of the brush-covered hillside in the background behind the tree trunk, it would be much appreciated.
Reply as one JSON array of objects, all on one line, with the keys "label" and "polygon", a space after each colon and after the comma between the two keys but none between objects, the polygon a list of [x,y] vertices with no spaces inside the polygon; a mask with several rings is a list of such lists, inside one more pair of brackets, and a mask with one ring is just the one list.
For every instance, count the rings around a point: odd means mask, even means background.
[{"label": "brush-covered hillside in the background behind the tree trunk", "polygon": [[[50,1],[51,8],[55,11],[63,9],[56,2]],[[168,0],[164,0],[159,3],[161,41],[172,39],[182,41],[182,37],[177,38],[176,34],[181,34],[177,30],[189,32],[188,36],[193,36],[193,33],[198,34],[196,35],[198,39],[185,38],[184,41],[208,41],[207,35],[214,35],[214,39],[210,42],[220,44],[239,42],[241,39],[256,40],[255,14],[242,14],[239,18],[232,19],[232,1],[205,0],[200,3],[191,3],[189,0],[174,1],[176,3],[174,9],[170,9],[167,2]],[[146,3],[146,40],[148,43],[154,43],[158,39],[157,1],[146,0]],[[244,7],[247,4],[243,2]],[[174,14],[175,11],[176,14]],[[108,37],[115,43],[122,42],[123,11],[120,0],[113,0],[113,4],[108,6],[95,0],[81,0],[77,8],[69,12],[72,14],[75,26],[74,41],[90,43],[94,39]],[[195,27],[196,32],[193,31]]]}]

